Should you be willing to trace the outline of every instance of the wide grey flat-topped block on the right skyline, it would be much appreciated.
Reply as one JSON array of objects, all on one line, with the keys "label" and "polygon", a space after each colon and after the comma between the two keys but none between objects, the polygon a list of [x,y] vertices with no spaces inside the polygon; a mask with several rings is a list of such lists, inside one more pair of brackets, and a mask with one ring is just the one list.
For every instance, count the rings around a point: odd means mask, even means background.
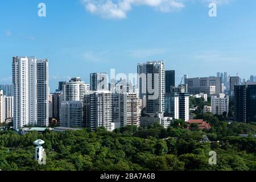
[{"label": "wide grey flat-topped block on the right skyline", "polygon": [[210,86],[215,86],[216,94],[222,93],[224,91],[222,90],[221,77],[187,78],[185,79],[185,84],[188,84],[188,92],[191,94],[201,93],[202,88],[209,90]]}]

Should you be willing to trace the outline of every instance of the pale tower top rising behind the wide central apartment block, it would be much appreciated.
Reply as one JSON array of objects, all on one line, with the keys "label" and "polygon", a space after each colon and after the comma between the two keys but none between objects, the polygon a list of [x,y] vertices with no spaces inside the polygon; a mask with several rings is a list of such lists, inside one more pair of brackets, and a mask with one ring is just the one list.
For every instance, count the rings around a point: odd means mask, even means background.
[{"label": "pale tower top rising behind the wide central apartment block", "polygon": [[109,90],[108,75],[106,73],[91,73],[90,90]]}]

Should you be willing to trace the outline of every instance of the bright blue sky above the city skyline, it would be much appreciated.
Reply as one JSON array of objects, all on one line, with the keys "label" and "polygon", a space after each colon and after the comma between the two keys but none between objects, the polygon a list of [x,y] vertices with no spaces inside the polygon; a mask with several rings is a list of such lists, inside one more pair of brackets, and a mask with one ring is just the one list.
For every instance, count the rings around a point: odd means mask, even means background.
[{"label": "bright blue sky above the city skyline", "polygon": [[13,56],[48,58],[51,91],[92,72],[135,73],[147,60],[165,60],[177,83],[184,74],[256,75],[256,1],[213,1],[213,18],[208,0],[1,1],[0,84],[11,82]]}]

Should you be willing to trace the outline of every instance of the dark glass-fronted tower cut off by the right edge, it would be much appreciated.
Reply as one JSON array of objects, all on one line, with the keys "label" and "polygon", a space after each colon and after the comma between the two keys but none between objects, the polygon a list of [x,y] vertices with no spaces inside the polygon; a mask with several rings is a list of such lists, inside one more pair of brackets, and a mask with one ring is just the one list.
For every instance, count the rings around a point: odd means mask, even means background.
[{"label": "dark glass-fronted tower cut off by the right edge", "polygon": [[235,85],[234,103],[237,122],[256,122],[256,85]]}]

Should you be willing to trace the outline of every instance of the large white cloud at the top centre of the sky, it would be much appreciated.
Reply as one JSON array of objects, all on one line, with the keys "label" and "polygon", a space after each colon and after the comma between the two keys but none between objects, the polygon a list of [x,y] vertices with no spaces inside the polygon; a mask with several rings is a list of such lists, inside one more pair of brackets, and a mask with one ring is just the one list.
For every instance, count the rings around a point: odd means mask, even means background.
[{"label": "large white cloud at the top centre of the sky", "polygon": [[183,0],[80,0],[85,9],[102,18],[126,18],[133,6],[150,6],[164,13],[181,10],[185,7]]}]

